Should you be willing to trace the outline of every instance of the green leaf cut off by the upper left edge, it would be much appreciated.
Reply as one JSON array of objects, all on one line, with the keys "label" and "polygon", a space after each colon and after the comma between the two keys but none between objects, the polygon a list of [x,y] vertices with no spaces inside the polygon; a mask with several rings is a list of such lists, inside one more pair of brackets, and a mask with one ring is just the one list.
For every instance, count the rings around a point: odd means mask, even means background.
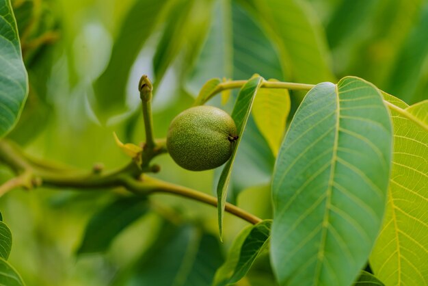
[{"label": "green leaf cut off by the upper left edge", "polygon": [[0,137],[3,137],[21,116],[28,94],[27,70],[10,0],[0,0],[0,55]]}]

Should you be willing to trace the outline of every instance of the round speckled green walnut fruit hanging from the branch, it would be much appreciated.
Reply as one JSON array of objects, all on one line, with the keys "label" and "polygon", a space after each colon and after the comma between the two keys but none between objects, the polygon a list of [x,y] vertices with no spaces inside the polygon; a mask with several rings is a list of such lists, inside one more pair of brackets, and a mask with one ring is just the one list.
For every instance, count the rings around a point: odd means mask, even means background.
[{"label": "round speckled green walnut fruit hanging from the branch", "polygon": [[217,168],[232,155],[237,127],[222,109],[201,105],[172,120],[166,146],[179,166],[192,171]]}]

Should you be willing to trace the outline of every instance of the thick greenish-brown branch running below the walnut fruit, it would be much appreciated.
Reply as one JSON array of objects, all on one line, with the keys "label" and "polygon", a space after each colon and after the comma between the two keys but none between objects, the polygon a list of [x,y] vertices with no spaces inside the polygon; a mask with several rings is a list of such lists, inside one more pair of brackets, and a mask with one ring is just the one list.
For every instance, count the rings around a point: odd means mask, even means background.
[{"label": "thick greenish-brown branch running below the walnut fruit", "polygon": [[[158,151],[152,153],[153,157],[164,153],[165,148],[161,147],[163,140],[157,141]],[[76,190],[103,190],[105,188],[124,187],[126,190],[139,196],[149,196],[152,194],[174,194],[198,200],[201,203],[217,206],[217,198],[198,192],[189,187],[174,185],[148,176],[141,177],[142,170],[139,169],[135,161],[109,172],[93,172],[68,169],[64,172],[64,167],[54,168],[55,164],[35,164],[35,159],[28,159],[18,146],[5,140],[0,141],[0,161],[9,166],[18,176],[14,179],[18,181],[25,174],[27,188],[43,185],[45,187],[62,188],[70,187]],[[13,180],[13,179],[12,179]],[[11,190],[14,187],[23,186],[21,183],[15,184],[15,181],[8,181],[4,186],[5,190]],[[0,187],[1,191],[1,187]],[[252,224],[260,222],[260,218],[253,216],[251,213],[226,203],[226,211]]]}]

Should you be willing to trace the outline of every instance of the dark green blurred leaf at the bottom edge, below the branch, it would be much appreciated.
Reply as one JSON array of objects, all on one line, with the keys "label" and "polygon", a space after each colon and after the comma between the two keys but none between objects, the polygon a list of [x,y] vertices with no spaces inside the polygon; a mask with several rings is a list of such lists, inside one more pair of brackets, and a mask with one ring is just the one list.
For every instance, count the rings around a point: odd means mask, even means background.
[{"label": "dark green blurred leaf at the bottom edge, below the branch", "polygon": [[131,273],[116,285],[209,286],[223,258],[214,235],[166,226]]}]

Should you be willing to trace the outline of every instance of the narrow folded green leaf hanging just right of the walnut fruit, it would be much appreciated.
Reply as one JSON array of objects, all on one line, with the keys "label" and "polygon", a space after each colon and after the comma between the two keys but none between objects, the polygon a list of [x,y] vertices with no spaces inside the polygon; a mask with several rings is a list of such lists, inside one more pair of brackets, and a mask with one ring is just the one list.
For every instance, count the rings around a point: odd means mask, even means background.
[{"label": "narrow folded green leaf hanging just right of the walnut fruit", "polygon": [[242,140],[243,131],[245,129],[245,125],[247,125],[248,117],[250,116],[254,96],[256,96],[257,90],[260,88],[262,81],[262,77],[254,77],[247,81],[247,83],[245,83],[245,85],[239,91],[235,107],[233,107],[232,118],[235,120],[235,124],[237,125],[239,138],[235,142],[235,148],[233,150],[232,156],[230,157],[229,161],[226,162],[217,185],[217,200],[219,202],[217,209],[220,238],[223,235],[224,204],[226,203],[233,161],[235,161],[239,142]]}]

